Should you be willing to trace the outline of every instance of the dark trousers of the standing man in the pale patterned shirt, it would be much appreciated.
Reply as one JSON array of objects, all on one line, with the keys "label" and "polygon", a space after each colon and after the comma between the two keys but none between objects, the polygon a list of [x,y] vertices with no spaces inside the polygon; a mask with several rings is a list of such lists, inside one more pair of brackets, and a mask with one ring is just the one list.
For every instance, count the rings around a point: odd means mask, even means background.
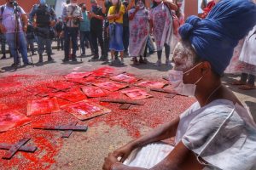
[{"label": "dark trousers of the standing man in the pale patterned shirt", "polygon": [[66,27],[64,31],[64,39],[65,39],[65,59],[68,59],[69,48],[70,48],[70,39],[72,41],[73,53],[72,57],[76,58],[77,48],[78,48],[78,35],[79,28],[76,27]]}]

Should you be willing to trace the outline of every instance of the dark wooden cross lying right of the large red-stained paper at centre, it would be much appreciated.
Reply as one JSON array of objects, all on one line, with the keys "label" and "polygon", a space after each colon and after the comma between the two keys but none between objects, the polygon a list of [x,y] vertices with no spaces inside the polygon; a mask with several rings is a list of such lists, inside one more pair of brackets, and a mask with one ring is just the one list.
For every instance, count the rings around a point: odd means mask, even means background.
[{"label": "dark wooden cross lying right of the large red-stained paper at centre", "polygon": [[108,103],[117,103],[122,104],[119,106],[121,110],[128,110],[131,105],[145,105],[145,102],[142,101],[133,101],[127,99],[101,99],[101,102],[108,102]]}]

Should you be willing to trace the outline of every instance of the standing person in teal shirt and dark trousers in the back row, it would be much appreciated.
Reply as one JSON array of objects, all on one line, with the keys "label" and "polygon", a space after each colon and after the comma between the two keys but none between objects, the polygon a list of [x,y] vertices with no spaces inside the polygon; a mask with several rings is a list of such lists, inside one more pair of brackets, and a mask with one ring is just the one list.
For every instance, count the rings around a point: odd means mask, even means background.
[{"label": "standing person in teal shirt and dark trousers in the back row", "polygon": [[91,45],[90,39],[90,19],[89,12],[86,10],[86,5],[81,3],[80,8],[82,8],[83,20],[80,22],[80,45],[82,48],[82,55],[85,55],[85,41],[89,41],[90,49],[93,51],[93,46]]}]

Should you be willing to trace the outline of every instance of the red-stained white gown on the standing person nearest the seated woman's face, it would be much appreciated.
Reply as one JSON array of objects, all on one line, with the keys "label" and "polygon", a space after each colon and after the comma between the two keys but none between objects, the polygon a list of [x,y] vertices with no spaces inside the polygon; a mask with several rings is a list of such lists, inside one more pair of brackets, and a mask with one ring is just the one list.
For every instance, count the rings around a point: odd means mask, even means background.
[{"label": "red-stained white gown on the standing person nearest the seated woman's face", "polygon": [[162,50],[165,43],[171,45],[173,37],[172,14],[165,3],[160,3],[151,9],[150,20],[153,21],[153,34],[157,51]]}]

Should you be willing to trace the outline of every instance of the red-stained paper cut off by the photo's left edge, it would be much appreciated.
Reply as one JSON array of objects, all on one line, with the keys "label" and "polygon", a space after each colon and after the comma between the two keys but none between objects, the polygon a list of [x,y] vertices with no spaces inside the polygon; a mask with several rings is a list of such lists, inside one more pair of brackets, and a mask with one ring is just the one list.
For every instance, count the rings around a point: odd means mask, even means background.
[{"label": "red-stained paper cut off by the photo's left edge", "polygon": [[30,122],[31,119],[21,114],[19,111],[0,112],[0,132],[5,132],[13,127],[20,127]]}]

